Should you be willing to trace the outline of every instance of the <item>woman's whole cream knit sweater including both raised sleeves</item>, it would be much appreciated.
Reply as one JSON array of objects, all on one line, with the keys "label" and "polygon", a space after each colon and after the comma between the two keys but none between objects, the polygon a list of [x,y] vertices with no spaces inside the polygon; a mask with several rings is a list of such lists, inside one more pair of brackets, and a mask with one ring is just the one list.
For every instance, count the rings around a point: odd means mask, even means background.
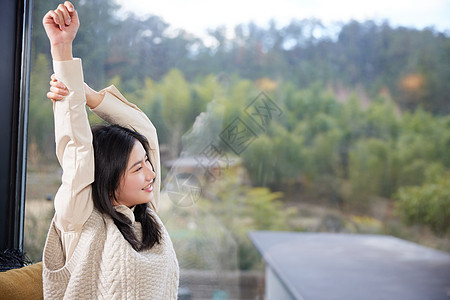
[{"label": "woman's whole cream knit sweater including both raised sleeves", "polygon": [[[81,60],[54,62],[54,70],[70,93],[54,106],[56,152],[63,177],[43,253],[44,298],[176,299],[178,262],[155,211],[148,209],[160,223],[161,243],[137,252],[114,221],[94,209],[90,186],[94,170],[92,136],[85,111]],[[157,172],[151,207],[157,208],[160,168],[154,126],[114,87],[104,94],[102,103],[93,111],[109,123],[137,130],[149,140],[153,150],[150,159]],[[132,215],[126,209],[128,212],[123,213]],[[133,226],[141,238],[140,223],[133,222]]]}]

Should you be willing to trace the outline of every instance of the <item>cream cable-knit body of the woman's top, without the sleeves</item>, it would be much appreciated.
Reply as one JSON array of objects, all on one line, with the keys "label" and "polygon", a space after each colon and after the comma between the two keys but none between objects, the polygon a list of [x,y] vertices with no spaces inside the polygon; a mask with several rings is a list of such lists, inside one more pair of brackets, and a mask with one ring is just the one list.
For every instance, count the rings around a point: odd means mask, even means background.
[{"label": "cream cable-knit body of the woman's top, without the sleeves", "polygon": [[[161,244],[135,251],[114,221],[96,209],[85,223],[80,240],[65,264],[54,221],[43,255],[45,299],[177,299],[179,268],[166,228]],[[140,238],[140,223],[135,223]]]}]

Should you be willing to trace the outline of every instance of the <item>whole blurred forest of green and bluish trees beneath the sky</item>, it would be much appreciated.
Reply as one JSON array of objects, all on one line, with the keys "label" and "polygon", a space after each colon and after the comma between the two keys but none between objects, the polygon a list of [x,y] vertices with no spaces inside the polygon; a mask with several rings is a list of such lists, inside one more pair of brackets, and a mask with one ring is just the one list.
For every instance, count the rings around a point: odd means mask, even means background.
[{"label": "whole blurred forest of green and bluish trees beneath the sky", "polygon": [[[40,24],[55,3],[34,1],[30,165],[56,163],[45,97],[50,51]],[[289,221],[297,202],[371,218],[380,202],[407,226],[445,238],[438,247],[450,251],[449,32],[375,21],[333,28],[315,19],[283,27],[271,21],[240,24],[231,36],[211,28],[208,46],[158,16],[119,18],[111,1],[74,3],[82,16],[74,54],[83,59],[85,81],[95,89],[114,84],[136,103],[158,129],[163,158],[199,154],[212,142],[240,162],[246,179],[228,178],[210,191],[225,205],[230,185],[239,187],[233,201],[246,207],[239,219],[253,221],[233,223],[238,241],[247,227],[307,230]],[[257,101],[273,115],[255,121]],[[202,121],[207,126],[195,129]],[[252,134],[240,149],[223,138],[236,122]],[[224,207],[203,203],[229,221]],[[383,228],[378,232],[414,240]],[[239,264],[250,269],[253,262]]]}]

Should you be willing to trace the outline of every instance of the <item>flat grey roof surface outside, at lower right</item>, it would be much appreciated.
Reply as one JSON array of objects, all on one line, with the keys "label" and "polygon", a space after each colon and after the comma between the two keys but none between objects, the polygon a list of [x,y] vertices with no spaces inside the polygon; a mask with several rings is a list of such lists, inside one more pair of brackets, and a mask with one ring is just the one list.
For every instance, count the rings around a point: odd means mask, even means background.
[{"label": "flat grey roof surface outside, at lower right", "polygon": [[295,299],[450,299],[450,254],[392,236],[253,231]]}]

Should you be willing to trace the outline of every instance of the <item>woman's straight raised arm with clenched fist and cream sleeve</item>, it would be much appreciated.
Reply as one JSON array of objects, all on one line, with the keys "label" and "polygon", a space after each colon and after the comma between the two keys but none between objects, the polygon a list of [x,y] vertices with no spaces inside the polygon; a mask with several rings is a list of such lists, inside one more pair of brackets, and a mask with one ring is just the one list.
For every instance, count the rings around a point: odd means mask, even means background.
[{"label": "woman's straight raised arm with clenched fist and cream sleeve", "polygon": [[77,12],[66,1],[44,16],[43,25],[50,40],[55,80],[64,83],[64,87],[55,88],[65,91],[61,101],[53,105],[56,156],[63,169],[62,183],[55,196],[54,221],[61,231],[68,259],[94,207],[92,133],[85,109],[81,60],[72,57],[72,42],[79,27]]}]

